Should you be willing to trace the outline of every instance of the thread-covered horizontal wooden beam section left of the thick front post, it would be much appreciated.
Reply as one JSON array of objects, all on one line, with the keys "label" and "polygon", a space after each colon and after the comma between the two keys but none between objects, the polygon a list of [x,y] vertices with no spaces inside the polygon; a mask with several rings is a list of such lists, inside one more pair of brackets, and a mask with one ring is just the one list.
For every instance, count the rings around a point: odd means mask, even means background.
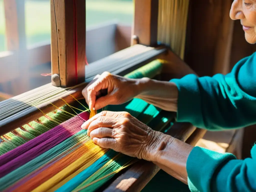
[{"label": "thread-covered horizontal wooden beam section left of the thick front post", "polygon": [[[10,111],[12,111],[13,113],[10,113],[9,116],[4,118],[1,118],[0,116],[0,135],[6,134],[16,129],[17,127],[23,126],[26,123],[29,123],[43,116],[44,114],[55,110],[55,106],[61,107],[65,105],[66,103],[63,100],[65,100],[67,103],[71,103],[72,101],[74,101],[74,98],[81,99],[81,92],[84,87],[85,85],[81,84],[79,87],[76,87],[69,91],[65,91],[60,90],[61,88],[52,86],[50,83],[23,93],[21,95],[17,95],[16,97],[2,101],[2,115],[4,112],[6,112],[6,109],[10,109]],[[51,93],[57,93],[57,95],[49,93],[49,90],[51,90]],[[48,94],[46,94],[47,91]],[[42,95],[40,97],[40,100],[45,100],[45,102],[41,102],[37,106],[34,106],[31,103],[27,103],[28,98],[32,99],[33,95],[37,95],[36,97],[38,97],[40,93]],[[60,98],[62,98],[63,100]],[[36,102],[38,103],[38,101]],[[9,103],[13,103],[13,107],[10,107]],[[55,106],[50,103],[54,104]]]}]

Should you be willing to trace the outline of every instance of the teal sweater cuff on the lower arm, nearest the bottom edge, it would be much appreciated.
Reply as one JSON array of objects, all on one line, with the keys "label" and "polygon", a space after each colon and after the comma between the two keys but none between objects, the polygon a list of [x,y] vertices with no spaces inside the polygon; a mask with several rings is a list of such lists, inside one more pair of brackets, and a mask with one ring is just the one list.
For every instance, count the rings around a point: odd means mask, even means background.
[{"label": "teal sweater cuff on the lower arm, nearest the bottom edge", "polygon": [[222,154],[202,147],[194,147],[186,165],[190,191],[210,191],[215,170],[231,159],[236,157],[230,153]]}]

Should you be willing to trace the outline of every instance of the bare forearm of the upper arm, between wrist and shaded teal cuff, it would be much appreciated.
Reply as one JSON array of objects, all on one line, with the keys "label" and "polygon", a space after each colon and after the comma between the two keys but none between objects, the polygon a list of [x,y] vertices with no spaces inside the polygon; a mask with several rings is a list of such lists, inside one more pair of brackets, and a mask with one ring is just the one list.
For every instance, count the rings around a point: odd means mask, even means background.
[{"label": "bare forearm of the upper arm, between wrist and shaded teal cuff", "polygon": [[174,83],[142,78],[138,86],[140,93],[136,98],[166,111],[177,111],[178,89]]}]

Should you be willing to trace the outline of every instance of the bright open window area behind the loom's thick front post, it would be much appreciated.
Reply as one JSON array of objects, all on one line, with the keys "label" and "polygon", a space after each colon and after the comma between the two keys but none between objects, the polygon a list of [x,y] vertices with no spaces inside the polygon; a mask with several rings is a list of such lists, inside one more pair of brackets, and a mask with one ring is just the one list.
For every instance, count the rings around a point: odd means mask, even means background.
[{"label": "bright open window area behind the loom's thick front post", "polygon": [[[16,14],[16,9],[25,10],[24,15],[18,16],[25,18],[23,39],[11,34],[12,39],[8,41],[8,45],[12,41],[20,45],[19,41],[25,40],[22,50],[19,46],[11,50],[7,46],[7,4],[11,16]],[[49,83],[50,76],[41,74],[51,72],[50,0],[0,0],[0,9],[3,10],[0,12],[0,92],[17,95]],[[86,0],[86,55],[89,63],[130,46],[133,11],[133,0]],[[12,27],[7,28],[9,31],[17,28]],[[20,59],[20,56],[24,58]]]}]

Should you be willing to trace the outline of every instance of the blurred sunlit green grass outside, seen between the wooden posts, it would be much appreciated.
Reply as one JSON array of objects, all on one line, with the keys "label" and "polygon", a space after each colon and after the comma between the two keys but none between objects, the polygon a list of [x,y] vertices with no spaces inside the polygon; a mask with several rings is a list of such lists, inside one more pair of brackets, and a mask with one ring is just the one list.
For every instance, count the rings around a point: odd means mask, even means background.
[{"label": "blurred sunlit green grass outside, seen between the wooden posts", "polygon": [[[86,0],[86,26],[117,20],[132,24],[132,0]],[[50,1],[25,0],[27,46],[50,41]],[[0,51],[6,50],[3,0],[0,0]]]}]

